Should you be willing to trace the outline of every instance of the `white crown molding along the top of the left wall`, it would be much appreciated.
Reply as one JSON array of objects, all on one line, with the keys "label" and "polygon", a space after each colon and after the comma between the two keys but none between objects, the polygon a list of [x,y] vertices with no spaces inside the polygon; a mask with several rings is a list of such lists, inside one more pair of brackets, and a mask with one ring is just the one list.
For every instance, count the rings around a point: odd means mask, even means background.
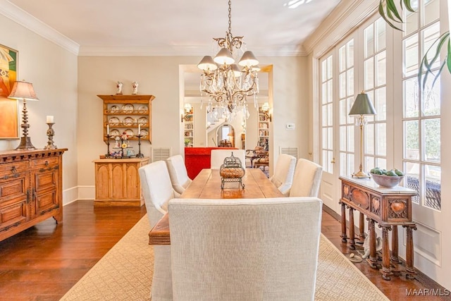
[{"label": "white crown molding along the top of the left wall", "polygon": [[18,6],[12,4],[10,1],[0,0],[0,13],[28,30],[35,32],[37,35],[54,42],[58,46],[75,55],[78,55],[78,50],[80,48],[79,44],[54,30],[49,25],[42,23],[42,21],[30,15],[30,13],[27,13]]}]

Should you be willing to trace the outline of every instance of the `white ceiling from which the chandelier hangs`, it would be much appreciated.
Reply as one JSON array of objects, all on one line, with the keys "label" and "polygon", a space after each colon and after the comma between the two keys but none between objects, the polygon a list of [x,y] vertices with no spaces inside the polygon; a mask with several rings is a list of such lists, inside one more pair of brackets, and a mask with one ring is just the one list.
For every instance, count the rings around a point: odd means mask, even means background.
[{"label": "white ceiling from which the chandelier hangs", "polygon": [[[16,16],[30,19],[30,14],[78,44],[79,55],[201,56],[211,51],[212,38],[224,37],[228,29],[226,0],[9,2]],[[256,56],[306,54],[302,43],[339,2],[235,0],[232,34],[243,35]]]}]

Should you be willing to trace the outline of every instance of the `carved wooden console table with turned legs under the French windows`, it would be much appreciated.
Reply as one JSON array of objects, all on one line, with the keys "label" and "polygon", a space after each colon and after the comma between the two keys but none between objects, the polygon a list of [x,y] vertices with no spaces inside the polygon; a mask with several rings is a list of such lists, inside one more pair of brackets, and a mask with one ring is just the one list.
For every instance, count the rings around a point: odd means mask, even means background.
[{"label": "carved wooden console table with turned legs under the French windows", "polygon": [[[341,180],[341,238],[347,242],[346,235],[346,207],[350,216],[350,248],[355,249],[354,238],[354,210],[360,212],[359,238],[364,238],[364,215],[369,221],[369,258],[366,259],[373,269],[377,269],[376,257],[376,231],[374,223],[382,229],[382,277],[390,280],[390,275],[398,274],[399,269],[392,270],[390,263],[398,267],[398,238],[397,226],[406,228],[406,278],[414,278],[414,242],[412,231],[416,230],[416,224],[412,222],[412,196],[416,190],[396,186],[395,188],[383,188],[371,179],[359,179],[340,177]],[[392,233],[392,253],[388,245],[388,231]]]}]

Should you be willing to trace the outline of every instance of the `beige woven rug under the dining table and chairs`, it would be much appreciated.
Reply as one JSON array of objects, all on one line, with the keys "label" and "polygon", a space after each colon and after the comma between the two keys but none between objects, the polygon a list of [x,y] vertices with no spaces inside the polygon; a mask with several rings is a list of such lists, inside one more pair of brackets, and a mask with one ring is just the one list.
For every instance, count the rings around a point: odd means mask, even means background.
[{"label": "beige woven rug under the dining table and chairs", "polygon": [[[61,300],[149,300],[154,254],[144,216]],[[321,234],[315,300],[388,300]]]}]

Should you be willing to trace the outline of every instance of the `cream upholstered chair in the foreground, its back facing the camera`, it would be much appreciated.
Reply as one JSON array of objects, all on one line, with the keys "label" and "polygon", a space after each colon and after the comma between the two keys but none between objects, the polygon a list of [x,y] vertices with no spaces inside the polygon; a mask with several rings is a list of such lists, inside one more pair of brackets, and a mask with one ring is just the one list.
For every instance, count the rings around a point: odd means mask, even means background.
[{"label": "cream upholstered chair in the foreground, its back facing the camera", "polygon": [[321,199],[171,199],[174,300],[314,300]]}]

